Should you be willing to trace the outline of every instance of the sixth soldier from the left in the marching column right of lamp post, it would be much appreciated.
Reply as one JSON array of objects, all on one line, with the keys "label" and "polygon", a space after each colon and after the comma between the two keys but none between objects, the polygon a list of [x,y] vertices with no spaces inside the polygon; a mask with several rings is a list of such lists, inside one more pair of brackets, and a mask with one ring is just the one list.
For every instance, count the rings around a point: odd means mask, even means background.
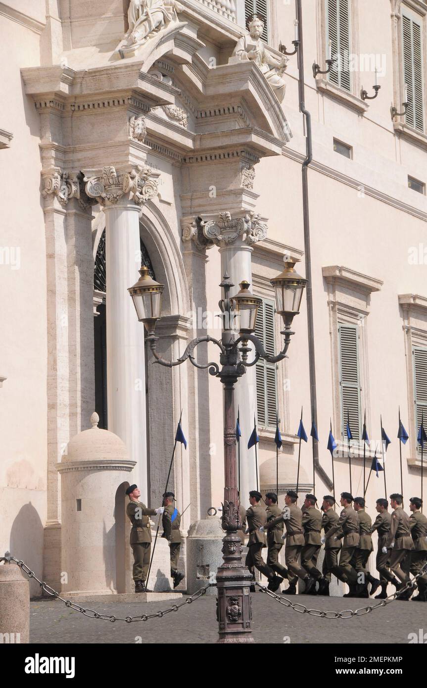
[{"label": "sixth soldier from the left in the marching column right of lamp post", "polygon": [[357,513],[351,506],[353,502],[353,497],[349,492],[341,493],[341,506],[344,508],[340,514],[338,522],[329,528],[328,537],[333,537],[333,539],[338,540],[338,532],[342,530],[344,535],[344,543],[342,544],[340,552],[340,562],[338,566],[332,568],[333,574],[340,579],[343,583],[347,583],[350,590],[344,597],[353,597],[354,594],[362,592],[363,586],[358,585],[358,574],[355,572],[353,566],[351,566],[351,559],[354,555],[355,549],[358,547],[360,542],[359,535],[359,519]]}]

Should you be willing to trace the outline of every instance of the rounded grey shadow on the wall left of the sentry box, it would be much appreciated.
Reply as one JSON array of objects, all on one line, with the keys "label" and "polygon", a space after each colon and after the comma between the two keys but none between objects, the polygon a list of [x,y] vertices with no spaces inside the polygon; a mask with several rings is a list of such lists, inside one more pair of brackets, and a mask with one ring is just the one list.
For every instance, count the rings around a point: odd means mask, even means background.
[{"label": "rounded grey shadow on the wall left of the sentry box", "polygon": [[[22,559],[36,576],[43,576],[43,535],[44,528],[39,513],[29,504],[24,504],[10,530],[10,553]],[[25,577],[25,574],[24,574]],[[41,588],[36,581],[30,581],[30,595],[39,596]]]}]

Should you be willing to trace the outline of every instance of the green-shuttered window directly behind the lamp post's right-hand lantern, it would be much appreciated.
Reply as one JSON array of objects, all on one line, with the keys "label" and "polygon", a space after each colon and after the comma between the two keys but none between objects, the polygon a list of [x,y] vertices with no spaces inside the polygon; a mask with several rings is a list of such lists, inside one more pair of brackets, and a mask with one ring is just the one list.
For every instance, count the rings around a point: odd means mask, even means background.
[{"label": "green-shuttered window directly behind the lamp post's right-hand lantern", "polygon": [[[263,343],[267,354],[274,356],[274,301],[263,299],[256,316],[255,335]],[[261,359],[256,363],[256,408],[259,426],[276,427],[276,364]]]}]

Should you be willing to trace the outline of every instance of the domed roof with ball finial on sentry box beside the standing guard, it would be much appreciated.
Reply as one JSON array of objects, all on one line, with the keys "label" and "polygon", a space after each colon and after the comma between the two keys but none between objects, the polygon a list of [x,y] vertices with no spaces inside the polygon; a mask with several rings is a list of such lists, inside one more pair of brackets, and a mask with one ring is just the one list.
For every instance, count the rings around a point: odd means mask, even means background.
[{"label": "domed roof with ball finial on sentry box beside the standing guard", "polygon": [[69,440],[61,457],[61,464],[76,461],[129,461],[126,444],[109,430],[98,428],[98,413],[92,413],[89,430],[83,430]]}]

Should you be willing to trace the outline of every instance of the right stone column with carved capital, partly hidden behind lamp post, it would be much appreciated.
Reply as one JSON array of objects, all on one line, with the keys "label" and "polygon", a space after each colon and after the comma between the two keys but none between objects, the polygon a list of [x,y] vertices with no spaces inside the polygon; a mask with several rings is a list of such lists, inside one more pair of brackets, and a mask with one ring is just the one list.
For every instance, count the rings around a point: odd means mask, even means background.
[{"label": "right stone column with carved capital, partly hidden behind lamp post", "polygon": [[[228,272],[234,282],[230,296],[236,294],[242,280],[248,280],[252,285],[252,246],[256,241],[262,241],[267,236],[267,225],[261,221],[260,215],[253,211],[236,217],[230,213],[220,213],[217,219],[204,222],[203,234],[206,239],[219,246],[221,254],[221,277]],[[249,354],[249,360],[252,360]],[[240,485],[243,504],[248,499],[250,490],[256,489],[256,471],[254,449],[250,449],[248,456],[248,440],[254,427],[256,416],[256,371],[255,367],[246,370],[234,389],[234,411],[240,411],[241,427],[241,460]]]}]

